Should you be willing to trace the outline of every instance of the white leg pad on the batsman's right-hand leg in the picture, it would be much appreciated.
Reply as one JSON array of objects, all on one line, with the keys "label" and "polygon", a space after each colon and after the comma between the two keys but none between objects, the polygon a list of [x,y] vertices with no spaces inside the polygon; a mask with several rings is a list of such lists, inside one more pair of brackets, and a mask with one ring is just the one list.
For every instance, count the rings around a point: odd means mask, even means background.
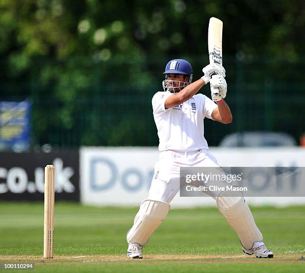
[{"label": "white leg pad on the batsman's right-hand leg in the picture", "polygon": [[239,196],[228,197],[220,193],[216,203],[218,210],[239,236],[242,246],[250,250],[255,242],[263,241],[263,235],[255,224],[242,192],[236,194]]}]

